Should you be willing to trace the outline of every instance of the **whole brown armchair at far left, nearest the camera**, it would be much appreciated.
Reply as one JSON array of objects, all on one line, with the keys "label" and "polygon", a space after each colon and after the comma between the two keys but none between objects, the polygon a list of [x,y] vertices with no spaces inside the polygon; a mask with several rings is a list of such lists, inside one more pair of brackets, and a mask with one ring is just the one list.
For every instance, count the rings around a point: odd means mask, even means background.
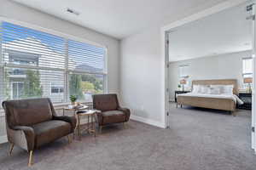
[{"label": "whole brown armchair at far left, nearest the camera", "polygon": [[32,165],[33,150],[55,139],[74,132],[76,118],[57,116],[50,99],[17,99],[3,101],[6,114],[9,155],[14,145],[29,152],[28,166]]}]

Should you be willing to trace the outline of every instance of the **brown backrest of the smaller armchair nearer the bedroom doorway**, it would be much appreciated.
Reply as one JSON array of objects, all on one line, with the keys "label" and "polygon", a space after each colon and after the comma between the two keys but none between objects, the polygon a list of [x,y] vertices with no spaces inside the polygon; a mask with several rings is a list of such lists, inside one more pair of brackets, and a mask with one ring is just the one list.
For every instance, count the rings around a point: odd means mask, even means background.
[{"label": "brown backrest of the smaller armchair nearer the bedroom doorway", "polygon": [[119,107],[116,94],[95,94],[92,96],[93,108],[100,111],[114,111]]}]

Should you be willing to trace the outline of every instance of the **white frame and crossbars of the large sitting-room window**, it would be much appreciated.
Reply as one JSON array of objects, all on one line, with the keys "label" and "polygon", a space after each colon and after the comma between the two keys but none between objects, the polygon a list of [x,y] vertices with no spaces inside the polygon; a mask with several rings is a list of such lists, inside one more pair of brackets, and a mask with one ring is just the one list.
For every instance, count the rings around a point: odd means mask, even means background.
[{"label": "white frame and crossbars of the large sitting-room window", "polygon": [[[1,41],[1,35],[0,35],[0,69],[2,71],[4,71],[4,67],[9,67],[9,68],[24,68],[24,69],[34,69],[34,70],[50,70],[50,71],[64,71],[64,101],[63,102],[55,102],[55,103],[67,103],[69,102],[69,84],[68,84],[68,80],[69,80],[69,73],[73,72],[73,73],[77,73],[77,74],[91,74],[91,75],[95,75],[95,74],[99,74],[103,76],[103,94],[108,93],[108,47],[105,45],[102,45],[100,43],[97,42],[92,42],[90,40],[84,39],[84,38],[80,38],[80,37],[76,37],[73,35],[69,35],[66,33],[62,33],[60,31],[54,31],[48,28],[44,28],[41,26],[36,26],[36,25],[32,25],[26,22],[22,22],[22,21],[18,21],[18,20],[10,20],[9,18],[5,18],[5,17],[1,17],[0,16],[0,26],[2,26],[2,22],[9,22],[11,24],[14,25],[18,25],[18,26],[23,26],[29,29],[33,29],[35,31],[43,31],[45,33],[48,34],[52,34],[54,36],[57,37],[62,37],[65,40],[65,67],[64,69],[61,68],[49,68],[49,67],[44,67],[44,66],[33,66],[33,65],[15,65],[15,64],[4,64],[3,63],[3,48],[2,48],[2,41]],[[93,45],[97,48],[103,48],[104,49],[104,69],[102,72],[88,72],[88,71],[69,71],[67,68],[68,65],[68,41],[72,40],[72,41],[77,41],[77,42],[82,42],[82,43],[88,43],[90,45]],[[3,80],[4,82],[4,77]],[[83,101],[83,102],[87,102],[87,101]]]}]

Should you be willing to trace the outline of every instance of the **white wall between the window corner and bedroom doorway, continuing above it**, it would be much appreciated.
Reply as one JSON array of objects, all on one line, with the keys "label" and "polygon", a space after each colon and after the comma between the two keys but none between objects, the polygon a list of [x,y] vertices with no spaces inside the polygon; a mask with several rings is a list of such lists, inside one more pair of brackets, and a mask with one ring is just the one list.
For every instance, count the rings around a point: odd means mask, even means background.
[{"label": "white wall between the window corner and bedroom doorway, continuing above it", "polygon": [[148,28],[121,41],[120,94],[122,104],[131,108],[132,116],[142,122],[165,125],[165,59],[161,54],[161,27],[165,23],[183,19],[220,1],[205,1],[189,5],[163,24]]}]

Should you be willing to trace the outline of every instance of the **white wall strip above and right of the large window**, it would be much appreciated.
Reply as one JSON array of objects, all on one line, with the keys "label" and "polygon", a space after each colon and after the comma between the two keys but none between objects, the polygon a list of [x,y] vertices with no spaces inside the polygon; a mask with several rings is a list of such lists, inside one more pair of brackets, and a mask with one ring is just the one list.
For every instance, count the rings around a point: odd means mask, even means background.
[{"label": "white wall strip above and right of the large window", "polygon": [[119,94],[119,40],[9,0],[0,0],[0,16],[41,26],[49,30],[59,31],[107,46],[108,92]]}]

